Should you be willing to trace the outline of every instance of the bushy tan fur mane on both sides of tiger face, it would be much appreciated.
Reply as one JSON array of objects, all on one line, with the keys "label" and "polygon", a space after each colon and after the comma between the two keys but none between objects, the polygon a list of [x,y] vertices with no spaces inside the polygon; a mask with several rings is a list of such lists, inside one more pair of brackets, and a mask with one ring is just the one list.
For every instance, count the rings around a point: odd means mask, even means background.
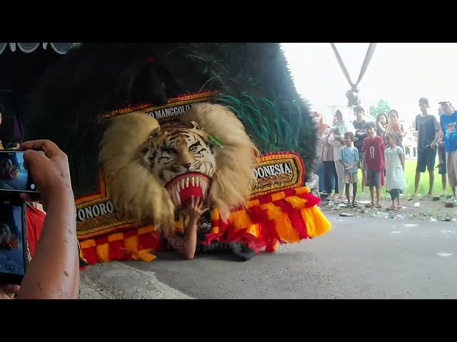
[{"label": "bushy tan fur mane on both sides of tiger face", "polygon": [[[187,110],[180,120],[186,130],[208,144],[214,155],[209,204],[219,209],[222,217],[228,217],[232,207],[246,203],[256,182],[252,168],[258,150],[240,120],[223,105],[201,103]],[[164,123],[163,129],[162,133],[173,130],[169,123]],[[211,144],[209,135],[219,138],[222,146]],[[152,219],[167,235],[174,233],[176,208],[164,187],[166,180],[156,175],[147,161],[148,152],[151,157],[158,152],[149,150],[149,146],[157,146],[154,139],[159,138],[160,143],[166,136],[161,135],[159,122],[144,112],[119,115],[104,133],[99,161],[116,209],[126,219]]]}]

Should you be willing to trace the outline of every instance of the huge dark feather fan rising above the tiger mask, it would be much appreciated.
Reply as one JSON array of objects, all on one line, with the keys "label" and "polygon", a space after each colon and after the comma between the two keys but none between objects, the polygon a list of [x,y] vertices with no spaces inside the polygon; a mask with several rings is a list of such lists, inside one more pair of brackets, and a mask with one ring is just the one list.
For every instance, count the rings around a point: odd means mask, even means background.
[{"label": "huge dark feather fan rising above the tiger mask", "polygon": [[263,115],[274,120],[279,113],[296,128],[298,146],[283,147],[300,153],[309,170],[315,130],[278,43],[83,43],[44,73],[24,135],[54,140],[67,153],[75,195],[82,195],[96,191],[100,115],[205,90],[274,103],[274,113]]}]

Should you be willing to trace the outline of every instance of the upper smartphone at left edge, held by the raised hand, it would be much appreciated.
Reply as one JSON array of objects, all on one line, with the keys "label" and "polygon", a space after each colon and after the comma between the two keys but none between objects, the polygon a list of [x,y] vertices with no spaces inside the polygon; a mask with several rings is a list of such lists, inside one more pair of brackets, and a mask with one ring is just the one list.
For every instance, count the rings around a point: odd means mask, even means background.
[{"label": "upper smartphone at left edge, held by the raised hand", "polygon": [[24,167],[24,151],[0,150],[0,192],[38,193],[31,174]]}]

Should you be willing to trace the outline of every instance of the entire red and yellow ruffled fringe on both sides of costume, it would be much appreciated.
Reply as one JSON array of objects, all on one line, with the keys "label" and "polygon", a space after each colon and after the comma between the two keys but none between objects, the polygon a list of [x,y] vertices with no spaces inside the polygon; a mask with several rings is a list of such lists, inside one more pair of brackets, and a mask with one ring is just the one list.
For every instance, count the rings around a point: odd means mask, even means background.
[{"label": "entire red and yellow ruffled fringe on both sides of costume", "polygon": [[[256,252],[262,249],[273,252],[278,244],[319,237],[331,230],[331,223],[316,207],[319,202],[308,187],[299,187],[253,199],[246,207],[233,210],[225,223],[214,209],[211,233],[202,243],[244,242]],[[179,230],[183,228],[182,222],[176,222],[176,226]],[[159,232],[152,225],[87,239],[80,244],[80,257],[89,264],[132,259],[152,261],[156,257],[151,252],[164,250]]]}]

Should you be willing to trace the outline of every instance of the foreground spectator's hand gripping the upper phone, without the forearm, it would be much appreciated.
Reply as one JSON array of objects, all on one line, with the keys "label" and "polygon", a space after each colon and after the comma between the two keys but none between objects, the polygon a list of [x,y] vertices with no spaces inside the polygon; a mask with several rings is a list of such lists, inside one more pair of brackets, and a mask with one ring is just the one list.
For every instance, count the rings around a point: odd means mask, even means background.
[{"label": "foreground spectator's hand gripping the upper phone, without the forearm", "polygon": [[[26,150],[24,165],[31,172],[45,211],[50,200],[55,200],[57,203],[62,199],[74,200],[68,158],[54,142],[50,140],[27,141],[21,145],[21,149]],[[36,150],[43,150],[45,155]],[[21,194],[21,199],[26,202],[34,200],[26,193]]]}]

